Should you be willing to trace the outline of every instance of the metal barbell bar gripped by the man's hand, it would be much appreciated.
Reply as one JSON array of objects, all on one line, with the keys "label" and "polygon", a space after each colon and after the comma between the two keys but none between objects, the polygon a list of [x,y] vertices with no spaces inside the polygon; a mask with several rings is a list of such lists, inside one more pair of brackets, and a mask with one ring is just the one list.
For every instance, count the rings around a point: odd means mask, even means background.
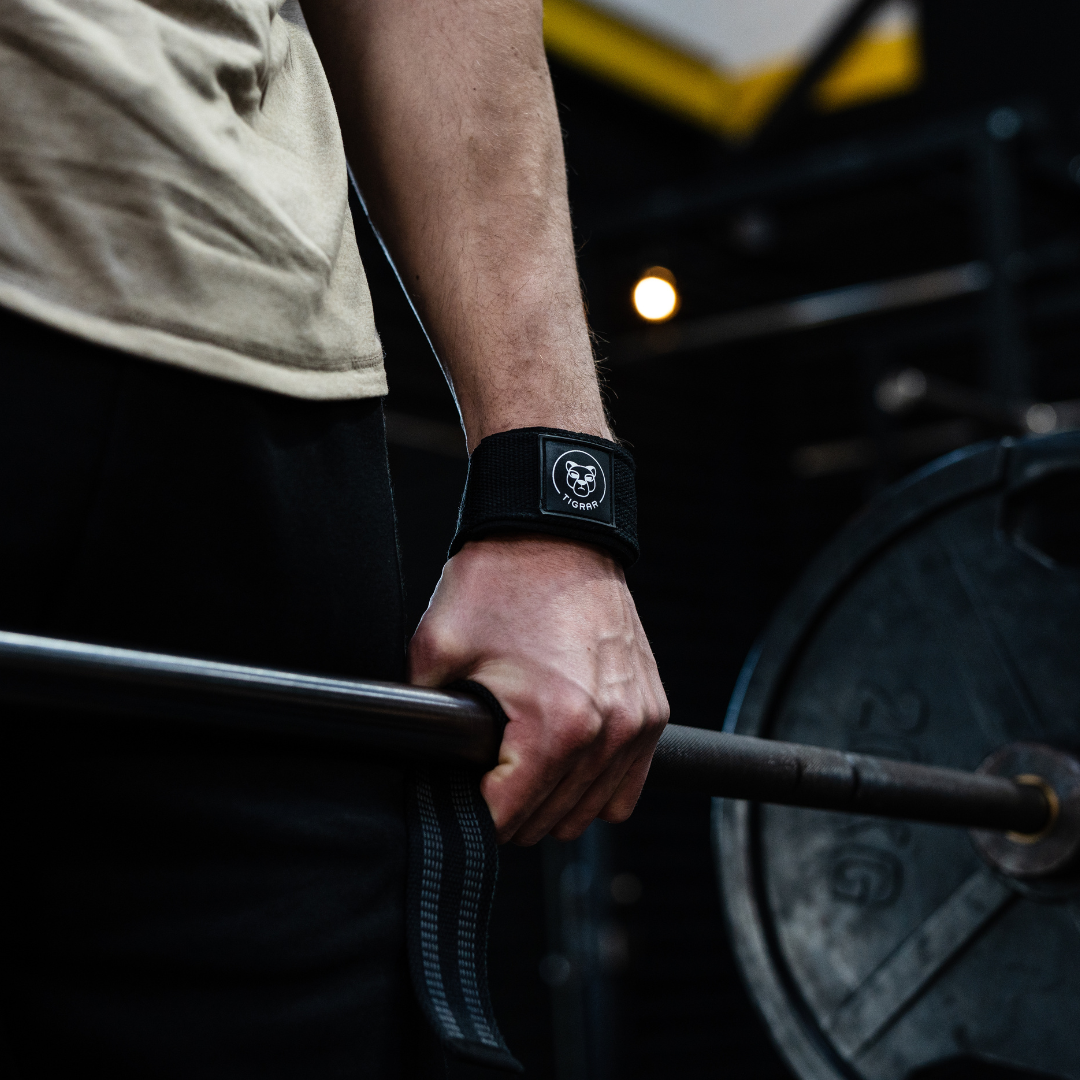
[{"label": "metal barbell bar gripped by the man's hand", "polygon": [[[0,700],[144,721],[333,740],[476,766],[495,724],[464,693],[298,675],[0,632]],[[669,725],[650,782],[723,798],[1038,833],[1037,787],[1001,777]]]}]

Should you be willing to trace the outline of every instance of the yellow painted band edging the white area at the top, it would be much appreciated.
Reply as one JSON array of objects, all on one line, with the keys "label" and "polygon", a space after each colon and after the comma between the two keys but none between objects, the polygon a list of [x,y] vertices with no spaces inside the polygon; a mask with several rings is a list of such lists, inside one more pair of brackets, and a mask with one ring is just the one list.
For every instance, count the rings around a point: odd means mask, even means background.
[{"label": "yellow painted band edging the white area at the top", "polygon": [[[731,78],[581,0],[544,0],[544,42],[559,59],[731,139],[752,135],[799,71],[780,62]],[[902,93],[920,75],[917,40],[860,40],[820,84],[819,104]]]}]

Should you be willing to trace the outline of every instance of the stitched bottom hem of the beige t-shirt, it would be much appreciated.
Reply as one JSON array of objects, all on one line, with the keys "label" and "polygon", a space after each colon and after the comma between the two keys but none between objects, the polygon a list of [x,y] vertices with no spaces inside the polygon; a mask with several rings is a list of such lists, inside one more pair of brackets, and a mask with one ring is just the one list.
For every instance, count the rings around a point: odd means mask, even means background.
[{"label": "stitched bottom hem of the beige t-shirt", "polygon": [[342,367],[287,366],[168,330],[86,314],[5,282],[0,282],[0,307],[95,345],[291,397],[341,401],[382,397],[388,390],[381,349]]}]

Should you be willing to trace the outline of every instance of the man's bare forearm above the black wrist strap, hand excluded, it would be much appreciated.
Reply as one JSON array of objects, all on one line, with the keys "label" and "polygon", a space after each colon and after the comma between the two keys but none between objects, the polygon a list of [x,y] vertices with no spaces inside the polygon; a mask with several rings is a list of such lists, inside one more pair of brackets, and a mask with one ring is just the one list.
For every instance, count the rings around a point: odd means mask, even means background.
[{"label": "man's bare forearm above the black wrist strap, hand excluded", "polygon": [[609,437],[570,232],[540,0],[305,0],[365,201],[470,449]]}]

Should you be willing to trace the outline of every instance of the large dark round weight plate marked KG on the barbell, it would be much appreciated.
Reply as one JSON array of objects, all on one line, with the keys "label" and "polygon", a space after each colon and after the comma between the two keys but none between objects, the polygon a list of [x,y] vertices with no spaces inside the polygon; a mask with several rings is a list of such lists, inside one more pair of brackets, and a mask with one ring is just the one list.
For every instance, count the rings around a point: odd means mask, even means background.
[{"label": "large dark round weight plate marked KG on the barbell", "polygon": [[[962,769],[1080,750],[1080,433],[876,500],[778,612],[728,729]],[[1080,1080],[1070,887],[996,876],[958,828],[717,800],[714,832],[739,960],[805,1080]]]}]

